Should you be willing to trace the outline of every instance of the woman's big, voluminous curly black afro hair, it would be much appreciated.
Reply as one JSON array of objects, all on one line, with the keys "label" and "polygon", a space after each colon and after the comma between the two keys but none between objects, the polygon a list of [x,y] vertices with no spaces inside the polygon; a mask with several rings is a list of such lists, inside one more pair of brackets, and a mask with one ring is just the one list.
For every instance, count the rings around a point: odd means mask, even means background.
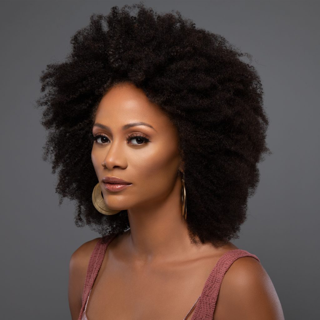
[{"label": "woman's big, voluminous curly black afro hair", "polygon": [[93,13],[70,43],[65,62],[42,71],[45,93],[36,108],[46,106],[43,159],[50,156],[52,173],[59,171],[59,206],[64,197],[76,201],[76,226],[88,225],[101,236],[130,227],[126,210],[103,215],[92,204],[97,176],[89,135],[108,89],[133,83],[178,128],[190,239],[219,247],[239,238],[260,179],[257,163],[272,154],[260,77],[240,59],[251,62],[252,55],[196,28],[179,11],[157,14],[142,1],[114,6],[108,15]]}]

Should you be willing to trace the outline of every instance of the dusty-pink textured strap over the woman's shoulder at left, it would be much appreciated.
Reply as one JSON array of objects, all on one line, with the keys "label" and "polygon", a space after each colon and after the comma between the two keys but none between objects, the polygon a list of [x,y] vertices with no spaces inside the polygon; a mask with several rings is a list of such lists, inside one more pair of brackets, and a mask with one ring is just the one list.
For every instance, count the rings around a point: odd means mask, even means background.
[{"label": "dusty-pink textured strap over the woman's shoulder at left", "polygon": [[87,302],[90,290],[93,286],[93,282],[98,274],[101,267],[102,260],[105,256],[108,244],[117,236],[118,234],[111,234],[106,243],[101,243],[103,237],[101,237],[96,243],[92,254],[90,256],[89,265],[87,269],[87,274],[84,281],[84,289],[82,292],[82,307],[78,320],[81,320],[85,303]]}]

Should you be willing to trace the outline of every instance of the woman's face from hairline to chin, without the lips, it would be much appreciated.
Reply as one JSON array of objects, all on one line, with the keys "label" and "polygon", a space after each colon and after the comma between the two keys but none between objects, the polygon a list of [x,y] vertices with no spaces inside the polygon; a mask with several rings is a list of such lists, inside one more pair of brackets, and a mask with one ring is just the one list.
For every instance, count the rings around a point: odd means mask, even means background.
[{"label": "woman's face from hairline to chin, without the lips", "polygon": [[[147,125],[137,125],[140,122]],[[102,136],[94,141],[91,158],[110,209],[130,210],[156,204],[181,180],[177,128],[134,84],[114,86],[103,96],[92,133]],[[106,176],[132,185],[109,191],[102,181]]]}]

